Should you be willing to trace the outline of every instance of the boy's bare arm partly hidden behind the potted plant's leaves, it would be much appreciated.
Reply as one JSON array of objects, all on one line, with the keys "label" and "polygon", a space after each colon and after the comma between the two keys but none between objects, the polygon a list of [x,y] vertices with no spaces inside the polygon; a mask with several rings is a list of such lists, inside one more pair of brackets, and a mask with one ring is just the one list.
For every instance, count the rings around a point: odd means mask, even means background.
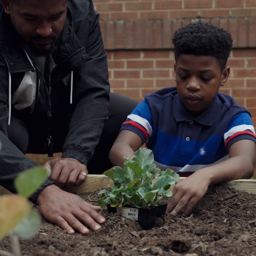
[{"label": "boy's bare arm partly hidden behind the potted plant's leaves", "polygon": [[142,145],[139,135],[129,130],[122,130],[117,136],[109,154],[109,159],[114,166],[123,167],[124,158],[133,158],[134,152]]}]

